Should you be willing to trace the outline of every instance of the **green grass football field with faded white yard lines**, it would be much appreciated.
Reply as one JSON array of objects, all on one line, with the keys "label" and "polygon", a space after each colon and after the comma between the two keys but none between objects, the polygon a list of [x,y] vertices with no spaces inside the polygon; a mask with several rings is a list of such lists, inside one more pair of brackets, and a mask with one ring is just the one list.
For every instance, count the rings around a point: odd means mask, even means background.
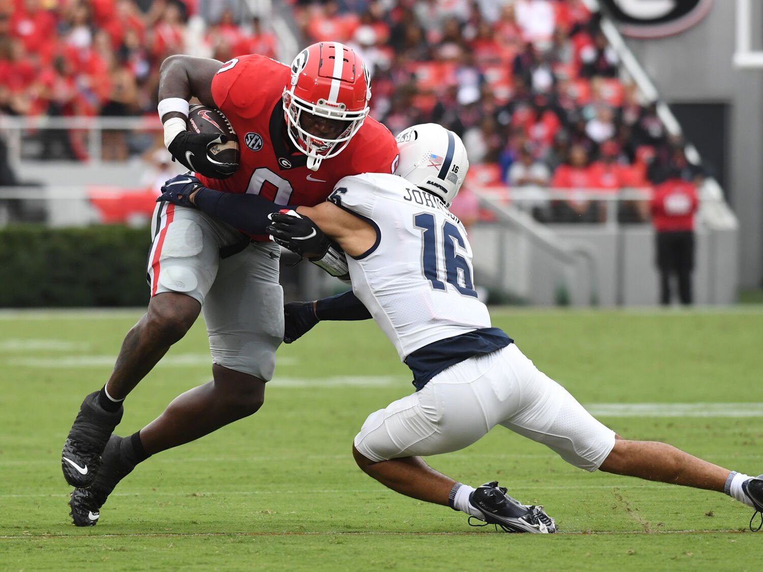
[{"label": "green grass football field with faded white yard lines", "polygon": [[[763,307],[493,315],[621,435],[763,472]],[[428,461],[543,504],[559,534],[472,528],[462,513],[381,487],[354,464],[353,436],[411,386],[371,322],[321,323],[283,346],[259,413],[150,458],[95,528],[78,529],[61,446],[138,317],[0,313],[3,570],[760,570],[752,509],[720,493],[588,474],[500,427]],[[118,432],[208,381],[209,361],[198,323],[127,399]]]}]

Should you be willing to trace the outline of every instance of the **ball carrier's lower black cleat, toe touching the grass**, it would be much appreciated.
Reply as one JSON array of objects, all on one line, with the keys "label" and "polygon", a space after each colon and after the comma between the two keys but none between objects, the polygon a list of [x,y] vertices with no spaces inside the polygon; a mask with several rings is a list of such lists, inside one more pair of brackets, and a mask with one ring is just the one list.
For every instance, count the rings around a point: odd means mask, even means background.
[{"label": "ball carrier's lower black cleat, toe touching the grass", "polygon": [[130,474],[135,468],[135,461],[130,458],[122,446],[118,435],[111,435],[101,457],[101,468],[95,476],[95,481],[89,488],[72,490],[69,507],[76,526],[95,526],[101,516],[101,506],[104,506],[108,496],[120,480]]}]

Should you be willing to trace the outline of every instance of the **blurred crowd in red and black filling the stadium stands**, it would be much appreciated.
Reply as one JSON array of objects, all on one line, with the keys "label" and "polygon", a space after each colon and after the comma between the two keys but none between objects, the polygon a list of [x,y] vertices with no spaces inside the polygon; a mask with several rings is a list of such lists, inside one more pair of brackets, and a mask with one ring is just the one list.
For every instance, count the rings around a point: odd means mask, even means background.
[{"label": "blurred crowd in red and black filling the stadium stands", "polygon": [[[550,201],[544,188],[617,192],[702,176],[582,0],[290,4],[302,43],[338,40],[361,53],[375,118],[393,133],[427,121],[456,131],[472,185],[504,198],[539,190],[529,203],[539,220],[603,216],[597,201],[572,192]],[[277,47],[267,18],[243,0],[0,0],[0,113],[153,116],[166,56],[275,57]],[[140,153],[167,159],[155,141],[104,133],[104,159]],[[42,155],[87,158],[76,131]],[[646,216],[637,202],[621,215]]]}]

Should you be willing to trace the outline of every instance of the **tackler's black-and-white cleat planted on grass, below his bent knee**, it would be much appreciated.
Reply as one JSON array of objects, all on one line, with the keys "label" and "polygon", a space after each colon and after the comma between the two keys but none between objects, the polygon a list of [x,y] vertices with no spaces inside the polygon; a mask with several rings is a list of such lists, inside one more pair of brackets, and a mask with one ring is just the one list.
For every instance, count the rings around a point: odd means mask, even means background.
[{"label": "tackler's black-and-white cleat planted on grass, below his bent knee", "polygon": [[[504,487],[498,487],[497,480],[483,484],[469,495],[469,503],[482,513],[470,516],[472,526],[496,525],[504,532],[533,532],[552,534],[556,532],[554,519],[543,512],[542,506],[526,506],[507,495]],[[472,518],[485,522],[472,524]]]}]

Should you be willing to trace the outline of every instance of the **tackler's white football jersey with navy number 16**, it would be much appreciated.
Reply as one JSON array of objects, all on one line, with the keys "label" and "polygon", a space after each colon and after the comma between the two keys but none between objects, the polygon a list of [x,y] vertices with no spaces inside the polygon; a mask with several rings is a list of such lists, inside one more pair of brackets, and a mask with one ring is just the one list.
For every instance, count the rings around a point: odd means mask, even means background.
[{"label": "tackler's white football jersey with navy number 16", "polygon": [[376,229],[368,252],[347,256],[349,275],[401,360],[440,339],[491,327],[475,292],[464,227],[438,198],[396,175],[365,173],[341,179],[329,201]]}]

